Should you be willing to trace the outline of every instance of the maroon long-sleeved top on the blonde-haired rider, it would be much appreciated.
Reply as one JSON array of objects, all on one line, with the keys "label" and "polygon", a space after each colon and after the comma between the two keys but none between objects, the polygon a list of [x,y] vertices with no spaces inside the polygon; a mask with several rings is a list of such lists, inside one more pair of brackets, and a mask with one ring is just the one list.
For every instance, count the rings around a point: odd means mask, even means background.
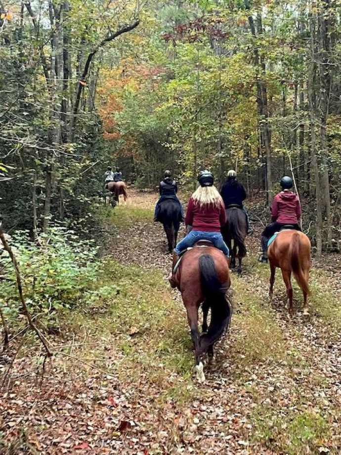
[{"label": "maroon long-sleeved top on the blonde-haired rider", "polygon": [[190,198],[185,223],[194,230],[220,232],[220,227],[226,223],[225,207],[222,205],[219,208],[212,204],[200,207],[193,198]]}]

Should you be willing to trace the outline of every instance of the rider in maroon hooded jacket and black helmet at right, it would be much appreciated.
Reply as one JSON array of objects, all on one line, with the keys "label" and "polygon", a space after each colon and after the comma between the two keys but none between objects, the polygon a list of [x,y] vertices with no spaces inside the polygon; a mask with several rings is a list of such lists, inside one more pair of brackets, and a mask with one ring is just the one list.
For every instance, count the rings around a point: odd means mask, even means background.
[{"label": "rider in maroon hooded jacket and black helmet at right", "polygon": [[301,216],[301,205],[298,195],[291,190],[293,179],[284,176],[280,185],[282,191],[276,194],[272,202],[272,223],[267,225],[262,232],[261,247],[263,253],[258,258],[259,262],[267,262],[267,242],[275,232],[287,225],[290,225],[293,229],[301,230],[298,226],[298,220]]}]

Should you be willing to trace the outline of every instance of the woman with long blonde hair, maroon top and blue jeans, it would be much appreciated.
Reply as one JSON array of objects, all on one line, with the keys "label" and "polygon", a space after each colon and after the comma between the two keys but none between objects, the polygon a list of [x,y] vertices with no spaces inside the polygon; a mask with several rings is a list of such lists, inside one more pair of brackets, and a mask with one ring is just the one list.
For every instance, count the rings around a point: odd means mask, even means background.
[{"label": "woman with long blonde hair, maroon top and blue jeans", "polygon": [[213,180],[210,171],[201,171],[199,174],[200,186],[188,201],[185,220],[186,226],[191,226],[192,230],[176,245],[174,253],[177,255],[193,246],[198,240],[210,240],[226,257],[230,256],[220,232],[221,227],[226,223],[224,202],[216,187],[213,186]]}]

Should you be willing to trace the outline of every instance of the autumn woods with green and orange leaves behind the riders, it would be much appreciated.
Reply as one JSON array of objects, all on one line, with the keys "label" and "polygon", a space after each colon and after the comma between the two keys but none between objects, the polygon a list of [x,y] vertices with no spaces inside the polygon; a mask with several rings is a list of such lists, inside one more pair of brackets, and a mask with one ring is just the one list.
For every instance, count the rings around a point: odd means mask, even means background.
[{"label": "autumn woods with green and orange leaves behind the riders", "polygon": [[[110,163],[155,188],[295,175],[316,253],[341,233],[341,2],[1,1],[0,212],[80,226]],[[292,170],[291,170],[292,168]]]}]

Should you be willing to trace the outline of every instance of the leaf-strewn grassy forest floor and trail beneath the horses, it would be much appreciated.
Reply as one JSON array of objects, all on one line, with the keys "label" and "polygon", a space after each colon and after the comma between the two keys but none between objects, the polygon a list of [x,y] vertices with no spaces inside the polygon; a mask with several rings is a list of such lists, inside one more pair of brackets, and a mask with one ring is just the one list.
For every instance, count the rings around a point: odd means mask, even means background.
[{"label": "leaf-strewn grassy forest floor and trail beneath the horses", "polygon": [[312,270],[310,318],[297,286],[289,318],[279,273],[268,300],[256,228],[242,277],[232,273],[231,327],[200,385],[181,297],[166,279],[166,238],[152,221],[157,195],[130,196],[100,210],[107,292],[61,318],[43,378],[41,352],[25,337],[0,392],[0,453],[340,454],[340,255]]}]

